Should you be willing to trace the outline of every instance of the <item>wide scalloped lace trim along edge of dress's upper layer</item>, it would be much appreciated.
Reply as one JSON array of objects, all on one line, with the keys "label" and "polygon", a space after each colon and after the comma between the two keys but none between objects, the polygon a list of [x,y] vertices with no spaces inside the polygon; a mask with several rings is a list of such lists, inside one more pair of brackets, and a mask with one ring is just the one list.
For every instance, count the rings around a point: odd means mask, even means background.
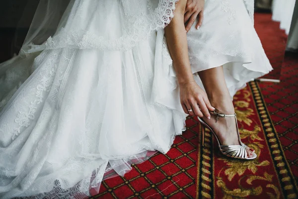
[{"label": "wide scalloped lace trim along edge of dress's upper layer", "polygon": [[129,50],[137,42],[145,40],[153,31],[163,29],[170,23],[174,16],[177,0],[160,0],[158,6],[153,9],[148,1],[150,14],[138,13],[126,14],[124,18],[125,33],[118,39],[106,39],[96,33],[84,29],[65,30],[61,28],[58,33],[49,37],[46,43],[41,46],[33,46],[34,49],[56,49],[72,47],[79,49],[100,49],[100,50]]}]

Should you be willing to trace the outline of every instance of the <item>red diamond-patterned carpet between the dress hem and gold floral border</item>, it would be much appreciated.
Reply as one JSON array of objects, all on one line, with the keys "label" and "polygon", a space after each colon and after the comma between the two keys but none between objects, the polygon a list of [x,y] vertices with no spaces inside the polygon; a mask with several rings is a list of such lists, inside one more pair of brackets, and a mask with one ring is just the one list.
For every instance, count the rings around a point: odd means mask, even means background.
[{"label": "red diamond-patterned carpet between the dress hem and gold floral border", "polygon": [[198,122],[189,118],[187,126],[167,154],[156,153],[143,164],[133,164],[125,177],[103,181],[93,198],[195,198]]}]

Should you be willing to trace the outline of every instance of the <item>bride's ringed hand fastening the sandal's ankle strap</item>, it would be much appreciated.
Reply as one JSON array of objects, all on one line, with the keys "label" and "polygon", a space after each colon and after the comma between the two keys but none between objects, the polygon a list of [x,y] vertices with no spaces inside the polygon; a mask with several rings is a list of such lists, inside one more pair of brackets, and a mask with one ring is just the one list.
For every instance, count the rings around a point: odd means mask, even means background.
[{"label": "bride's ringed hand fastening the sandal's ankle strap", "polygon": [[[183,83],[179,85],[180,88],[180,102],[186,114],[197,115],[203,117],[204,115],[210,119],[208,110],[215,110],[210,104],[207,94],[199,87],[195,81]],[[192,109],[192,111],[188,111]]]}]

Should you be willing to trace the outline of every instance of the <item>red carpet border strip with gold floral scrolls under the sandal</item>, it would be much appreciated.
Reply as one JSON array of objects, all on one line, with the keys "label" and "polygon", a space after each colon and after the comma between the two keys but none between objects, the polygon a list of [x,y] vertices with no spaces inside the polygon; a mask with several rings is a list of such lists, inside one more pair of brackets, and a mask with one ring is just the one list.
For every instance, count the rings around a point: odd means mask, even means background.
[{"label": "red carpet border strip with gold floral scrolls under the sandal", "polygon": [[196,198],[295,199],[298,189],[257,82],[234,96],[241,140],[258,158],[241,161],[224,158],[207,133],[198,147]]}]

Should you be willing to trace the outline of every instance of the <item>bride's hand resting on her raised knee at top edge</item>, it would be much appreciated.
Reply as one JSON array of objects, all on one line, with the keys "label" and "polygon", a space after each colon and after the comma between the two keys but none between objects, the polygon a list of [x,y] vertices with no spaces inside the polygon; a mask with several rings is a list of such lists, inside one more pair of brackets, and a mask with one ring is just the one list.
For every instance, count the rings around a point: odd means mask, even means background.
[{"label": "bride's hand resting on her raised knee at top edge", "polygon": [[184,24],[185,30],[187,32],[190,30],[198,16],[199,21],[196,25],[196,28],[199,29],[199,27],[202,25],[204,17],[204,5],[205,0],[187,0],[184,14]]}]

